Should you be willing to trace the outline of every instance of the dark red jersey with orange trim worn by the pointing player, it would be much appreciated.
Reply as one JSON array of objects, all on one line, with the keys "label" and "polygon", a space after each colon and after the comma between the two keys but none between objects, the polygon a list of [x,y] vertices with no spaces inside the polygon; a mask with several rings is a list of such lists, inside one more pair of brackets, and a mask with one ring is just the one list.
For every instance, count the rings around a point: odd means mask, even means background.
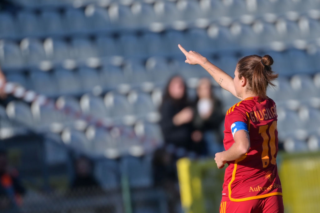
[{"label": "dark red jersey with orange trim worn by the pointing player", "polygon": [[224,148],[235,142],[231,132],[234,122],[245,122],[250,148],[245,156],[230,161],[225,171],[222,201],[247,201],[282,195],[276,156],[278,132],[276,104],[272,99],[246,98],[232,106],[226,114]]}]

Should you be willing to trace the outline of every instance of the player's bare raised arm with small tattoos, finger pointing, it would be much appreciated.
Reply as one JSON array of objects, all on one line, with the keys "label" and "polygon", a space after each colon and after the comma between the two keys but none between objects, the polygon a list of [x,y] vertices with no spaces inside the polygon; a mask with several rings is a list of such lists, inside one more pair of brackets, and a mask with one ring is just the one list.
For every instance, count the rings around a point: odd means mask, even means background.
[{"label": "player's bare raised arm with small tattoos, finger pointing", "polygon": [[207,58],[203,57],[199,53],[195,51],[185,50],[180,44],[178,45],[179,49],[183,52],[186,56],[186,63],[191,65],[201,65],[209,74],[213,77],[218,84],[224,88],[225,90],[229,91],[232,95],[236,96],[237,98],[241,99],[236,95],[236,90],[233,84],[233,78],[221,70],[219,67],[213,65]]}]

